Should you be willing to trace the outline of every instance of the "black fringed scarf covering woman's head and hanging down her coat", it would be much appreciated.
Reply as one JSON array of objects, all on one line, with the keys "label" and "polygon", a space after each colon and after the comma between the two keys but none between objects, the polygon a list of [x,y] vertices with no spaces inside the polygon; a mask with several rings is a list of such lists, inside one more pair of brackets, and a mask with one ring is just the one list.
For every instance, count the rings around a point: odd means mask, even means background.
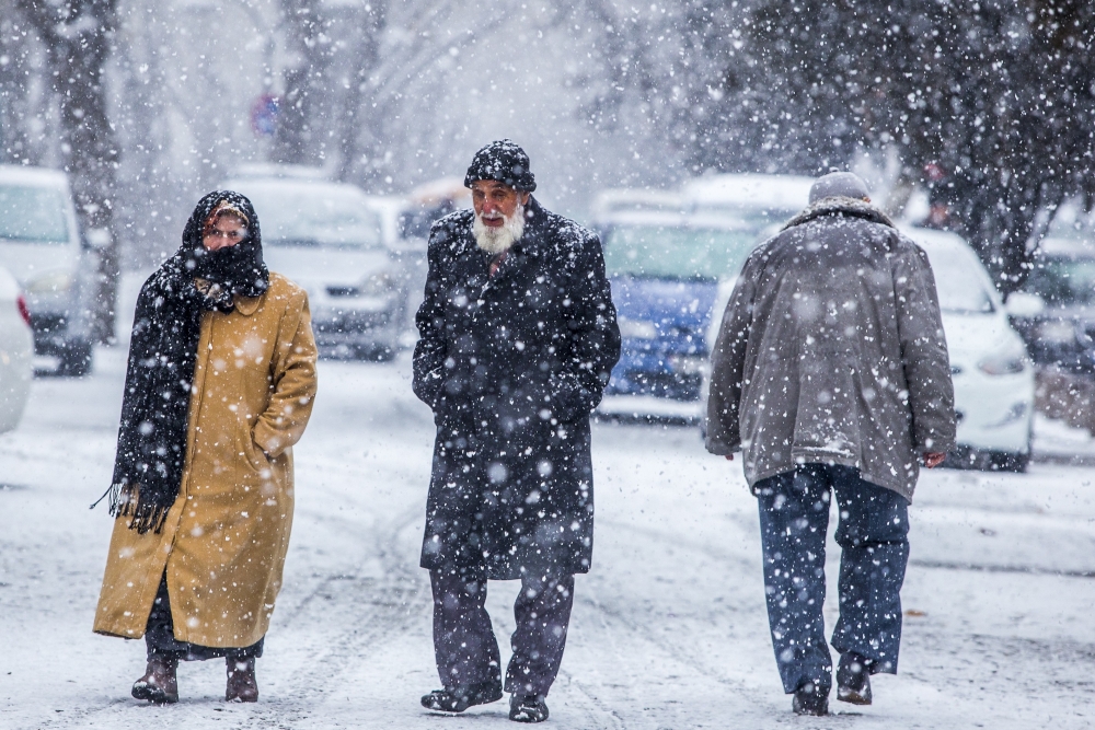
[{"label": "black fringed scarf covering woman's head and hanging down her coat", "polygon": [[[208,251],[201,244],[206,223],[223,207],[246,220],[246,237]],[[269,271],[251,201],[229,190],[201,198],[183,230],[183,245],[148,278],[137,299],[107,490],[111,514],[131,517],[131,530],[159,532],[182,486],[201,315],[231,312],[237,296],[258,297],[267,287]]]}]

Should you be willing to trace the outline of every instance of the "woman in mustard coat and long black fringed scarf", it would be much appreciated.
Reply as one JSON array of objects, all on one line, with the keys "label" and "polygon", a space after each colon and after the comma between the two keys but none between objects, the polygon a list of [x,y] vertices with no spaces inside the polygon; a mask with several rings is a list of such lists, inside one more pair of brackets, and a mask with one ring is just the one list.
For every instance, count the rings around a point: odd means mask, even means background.
[{"label": "woman in mustard coat and long black fringed scarf", "polygon": [[94,630],[145,637],[134,697],[174,703],[180,660],[222,657],[226,699],[257,700],[314,396],[304,291],[266,269],[245,197],[207,195],[137,300],[107,493]]}]

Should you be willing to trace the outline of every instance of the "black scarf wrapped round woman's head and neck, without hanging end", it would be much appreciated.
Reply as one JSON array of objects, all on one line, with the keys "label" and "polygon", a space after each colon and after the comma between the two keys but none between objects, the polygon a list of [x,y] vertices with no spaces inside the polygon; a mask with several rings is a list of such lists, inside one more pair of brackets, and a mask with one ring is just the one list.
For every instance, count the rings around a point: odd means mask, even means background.
[{"label": "black scarf wrapped round woman's head and neck, without hanging end", "polygon": [[[219,216],[234,216],[245,227],[238,243],[211,251],[203,239]],[[233,294],[257,297],[269,286],[263,262],[262,232],[251,200],[231,190],[216,190],[198,201],[183,229],[183,265],[195,278],[218,283]]]}]

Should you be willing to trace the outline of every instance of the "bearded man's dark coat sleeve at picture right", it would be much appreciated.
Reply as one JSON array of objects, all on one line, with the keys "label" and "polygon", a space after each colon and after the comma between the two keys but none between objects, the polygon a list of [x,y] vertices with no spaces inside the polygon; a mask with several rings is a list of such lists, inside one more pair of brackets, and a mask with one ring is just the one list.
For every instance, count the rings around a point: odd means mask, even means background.
[{"label": "bearded man's dark coat sleeve at picture right", "polygon": [[552,398],[563,420],[587,417],[601,402],[612,368],[620,360],[620,326],[612,304],[612,287],[604,274],[601,242],[588,233],[570,276],[566,320],[570,357],[553,374]]}]

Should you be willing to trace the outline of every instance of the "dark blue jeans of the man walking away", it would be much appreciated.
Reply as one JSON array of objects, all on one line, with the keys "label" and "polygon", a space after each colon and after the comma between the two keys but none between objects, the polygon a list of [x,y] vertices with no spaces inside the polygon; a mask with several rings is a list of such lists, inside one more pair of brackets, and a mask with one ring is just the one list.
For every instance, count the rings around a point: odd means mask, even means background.
[{"label": "dark blue jeans of the man walking away", "polygon": [[830,493],[840,511],[841,547],[840,619],[832,646],[861,654],[872,674],[896,673],[909,501],[864,482],[857,470],[821,464],[762,479],[753,489],[760,501],[768,621],[784,691],[789,694],[807,681],[827,691],[832,686],[821,616]]}]

